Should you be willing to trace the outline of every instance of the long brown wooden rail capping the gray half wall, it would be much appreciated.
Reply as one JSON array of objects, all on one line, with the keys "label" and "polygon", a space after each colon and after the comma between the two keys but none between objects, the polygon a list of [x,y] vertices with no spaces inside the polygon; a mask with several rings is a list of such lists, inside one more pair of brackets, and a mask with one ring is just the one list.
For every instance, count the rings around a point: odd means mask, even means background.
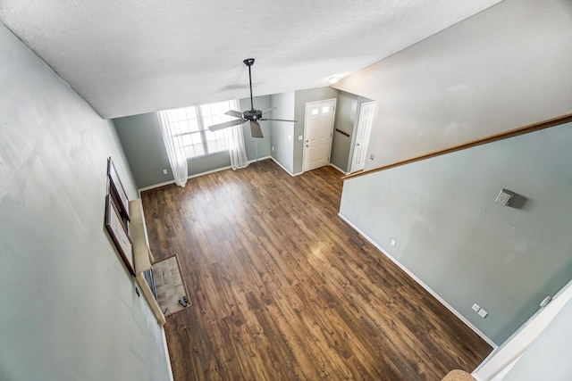
[{"label": "long brown wooden rail capping the gray half wall", "polygon": [[391,164],[383,165],[382,167],[377,167],[372,170],[362,170],[360,172],[352,173],[348,176],[344,176],[341,178],[342,180],[347,180],[349,178],[358,178],[360,176],[369,175],[374,172],[379,172],[382,170],[389,170],[391,168],[400,167],[401,165],[410,164],[412,162],[420,162],[425,159],[431,159],[432,157],[441,156],[447,153],[454,153],[461,150],[466,150],[467,148],[472,148],[477,145],[486,145],[489,143],[497,142],[499,140],[508,139],[509,137],[518,137],[520,135],[529,134],[534,131],[539,131],[544,128],[551,128],[554,126],[558,126],[560,124],[568,123],[572,121],[572,113],[566,114],[563,116],[559,116],[558,118],[553,118],[550,120],[544,120],[538,123],[529,124],[525,127],[511,129],[509,131],[501,132],[500,134],[491,135],[489,137],[482,137],[480,139],[476,139],[470,141],[468,143],[464,143],[462,145],[453,145],[452,147],[445,148],[439,151],[433,151],[432,153],[425,153],[420,156],[413,157],[411,159],[403,160],[400,162],[393,162]]}]

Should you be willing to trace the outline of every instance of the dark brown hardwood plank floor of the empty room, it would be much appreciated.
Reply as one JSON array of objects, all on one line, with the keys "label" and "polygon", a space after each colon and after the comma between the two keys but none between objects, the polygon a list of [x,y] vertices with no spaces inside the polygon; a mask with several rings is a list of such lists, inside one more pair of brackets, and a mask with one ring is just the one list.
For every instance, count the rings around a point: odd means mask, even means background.
[{"label": "dark brown hardwood plank floor of the empty room", "polygon": [[266,160],[142,193],[193,302],[165,325],[176,381],[440,380],[492,351],[338,217],[341,186]]}]

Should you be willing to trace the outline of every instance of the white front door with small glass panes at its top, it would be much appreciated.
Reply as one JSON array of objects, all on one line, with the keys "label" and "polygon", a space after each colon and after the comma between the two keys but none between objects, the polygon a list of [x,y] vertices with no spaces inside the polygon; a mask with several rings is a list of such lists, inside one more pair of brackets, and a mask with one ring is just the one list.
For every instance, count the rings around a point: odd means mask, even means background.
[{"label": "white front door with small glass panes at its top", "polygon": [[330,163],[335,107],[335,99],[306,104],[304,171],[315,170]]}]

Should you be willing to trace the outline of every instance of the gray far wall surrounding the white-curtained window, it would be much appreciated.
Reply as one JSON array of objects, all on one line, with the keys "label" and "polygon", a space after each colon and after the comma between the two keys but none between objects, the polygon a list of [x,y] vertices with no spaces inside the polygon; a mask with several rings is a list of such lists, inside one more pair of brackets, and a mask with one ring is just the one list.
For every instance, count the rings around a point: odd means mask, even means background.
[{"label": "gray far wall surrounding the white-curtained window", "polygon": [[[268,96],[256,97],[254,103],[257,109],[263,111],[270,108]],[[250,109],[250,99],[241,99],[240,110],[247,109]],[[172,181],[171,165],[164,148],[156,112],[117,118],[114,119],[114,124],[139,188]],[[266,124],[261,124],[261,126],[265,135],[264,139],[254,139],[251,137],[248,123],[243,125],[248,160],[270,155],[270,129]],[[192,176],[228,167],[231,165],[231,159],[226,152],[214,153],[190,159],[188,165],[189,176]],[[168,171],[167,175],[163,174],[164,169]]]}]

